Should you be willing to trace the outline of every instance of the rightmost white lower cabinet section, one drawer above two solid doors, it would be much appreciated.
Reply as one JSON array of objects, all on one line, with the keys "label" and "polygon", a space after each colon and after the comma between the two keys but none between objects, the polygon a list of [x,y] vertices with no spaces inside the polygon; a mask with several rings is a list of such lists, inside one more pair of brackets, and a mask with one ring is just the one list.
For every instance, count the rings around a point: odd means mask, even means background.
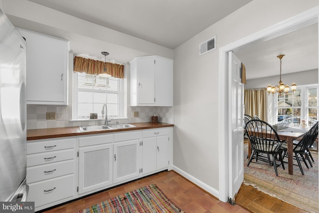
[{"label": "rightmost white lower cabinet section, one drawer above two solid doors", "polygon": [[169,131],[153,129],[143,131],[143,175],[158,172],[169,165]]}]

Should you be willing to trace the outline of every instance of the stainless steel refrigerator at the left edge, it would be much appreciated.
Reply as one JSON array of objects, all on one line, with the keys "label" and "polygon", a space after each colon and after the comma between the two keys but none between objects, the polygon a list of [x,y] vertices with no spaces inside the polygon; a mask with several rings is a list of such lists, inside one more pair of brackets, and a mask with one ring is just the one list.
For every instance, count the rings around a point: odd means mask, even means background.
[{"label": "stainless steel refrigerator at the left edge", "polygon": [[0,202],[26,201],[25,40],[0,10]]}]

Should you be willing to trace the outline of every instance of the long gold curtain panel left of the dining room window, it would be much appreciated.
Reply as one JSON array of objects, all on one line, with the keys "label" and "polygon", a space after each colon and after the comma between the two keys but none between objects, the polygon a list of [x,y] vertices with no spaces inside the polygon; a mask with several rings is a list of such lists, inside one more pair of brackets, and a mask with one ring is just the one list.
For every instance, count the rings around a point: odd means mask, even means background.
[{"label": "long gold curtain panel left of the dining room window", "polygon": [[257,115],[261,120],[267,122],[267,90],[262,89],[245,89],[244,91],[245,113],[250,116]]}]

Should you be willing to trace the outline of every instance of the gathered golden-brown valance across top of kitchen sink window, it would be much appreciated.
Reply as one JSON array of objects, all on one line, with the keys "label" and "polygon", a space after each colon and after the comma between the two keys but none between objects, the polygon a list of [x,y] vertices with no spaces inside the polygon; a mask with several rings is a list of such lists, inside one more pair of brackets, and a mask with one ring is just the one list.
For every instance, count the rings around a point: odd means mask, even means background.
[{"label": "gathered golden-brown valance across top of kitchen sink window", "polygon": [[103,72],[104,67],[107,73],[115,78],[124,78],[124,65],[111,62],[104,62],[80,56],[74,57],[74,72],[85,72],[92,75],[98,75]]}]

